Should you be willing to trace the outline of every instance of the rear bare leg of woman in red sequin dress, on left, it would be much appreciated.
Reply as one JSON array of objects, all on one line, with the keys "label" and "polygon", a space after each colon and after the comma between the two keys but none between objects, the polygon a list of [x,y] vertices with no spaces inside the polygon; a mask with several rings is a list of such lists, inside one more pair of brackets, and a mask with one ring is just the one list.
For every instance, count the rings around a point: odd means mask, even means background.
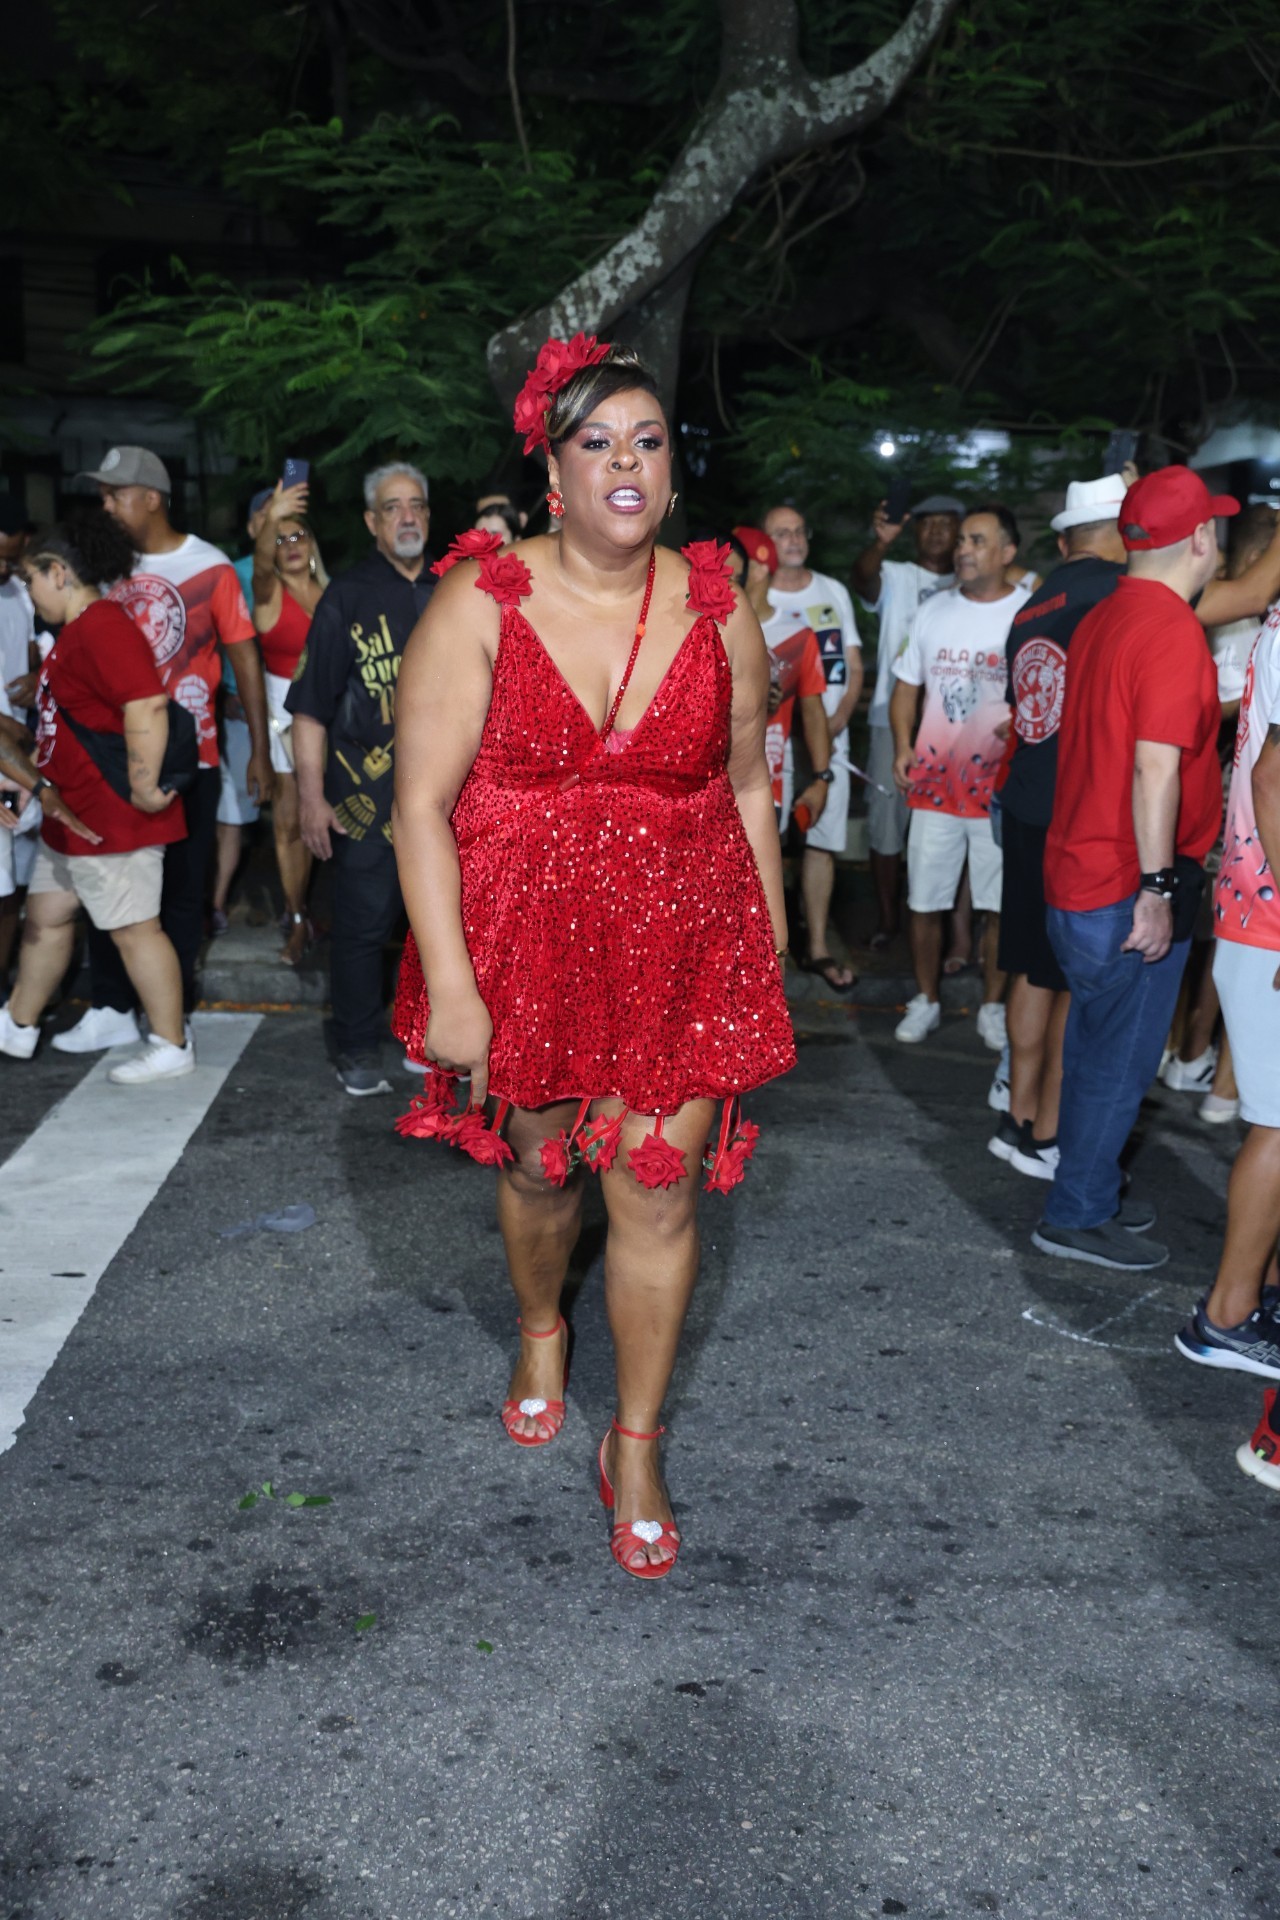
[{"label": "rear bare leg of woman in red sequin dress, on left", "polygon": [[[532,1114],[514,1108],[507,1123],[507,1144],[516,1158],[497,1177],[497,1223],[522,1323],[520,1357],[507,1388],[507,1398],[516,1402],[562,1398],[564,1338],[532,1340],[526,1334],[555,1327],[581,1229],[581,1173],[572,1173],[566,1187],[553,1187],[539,1160],[543,1140],[572,1127],[576,1112],[574,1104]],[[537,1438],[537,1421],[518,1419],[512,1432]]]}]

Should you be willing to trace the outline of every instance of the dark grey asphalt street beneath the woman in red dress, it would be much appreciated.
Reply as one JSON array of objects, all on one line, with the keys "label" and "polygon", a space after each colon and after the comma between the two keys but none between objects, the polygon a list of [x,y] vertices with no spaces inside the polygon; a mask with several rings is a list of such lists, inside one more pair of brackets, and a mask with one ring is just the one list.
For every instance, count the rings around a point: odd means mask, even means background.
[{"label": "dark grey asphalt street beneath the woman in red dress", "polygon": [[[1280,1916],[1261,1386],[1171,1348],[1236,1131],[1161,1091],[1171,1265],[1063,1265],[971,1020],[810,1018],[704,1200],[658,1584],[593,1488],[599,1202],[518,1450],[491,1175],[261,1020],[0,1453],[2,1920]],[[0,1160],[92,1066],[0,1062]]]}]

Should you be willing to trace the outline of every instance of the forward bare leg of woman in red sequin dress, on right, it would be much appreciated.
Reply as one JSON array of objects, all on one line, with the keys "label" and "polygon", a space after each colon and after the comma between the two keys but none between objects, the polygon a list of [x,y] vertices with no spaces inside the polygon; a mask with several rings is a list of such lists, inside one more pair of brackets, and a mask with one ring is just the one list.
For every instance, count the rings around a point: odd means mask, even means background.
[{"label": "forward bare leg of woman in red sequin dress, on right", "polygon": [[[616,1112],[616,1102],[601,1102],[603,1112],[610,1108]],[[662,1137],[683,1150],[689,1169],[676,1187],[664,1188],[641,1187],[628,1167],[631,1148],[652,1131],[651,1119],[628,1114],[618,1158],[601,1181],[608,1210],[604,1306],[618,1365],[618,1425],[633,1432],[652,1432],[662,1419],[679,1331],[699,1275],[697,1208],[712,1114],[712,1100],[691,1100],[664,1119]],[[672,1507],[654,1444],[610,1432],[604,1467],[614,1486],[616,1521],[670,1524]],[[637,1540],[633,1559],[635,1565],[649,1559],[660,1567],[672,1559],[672,1549]]]}]

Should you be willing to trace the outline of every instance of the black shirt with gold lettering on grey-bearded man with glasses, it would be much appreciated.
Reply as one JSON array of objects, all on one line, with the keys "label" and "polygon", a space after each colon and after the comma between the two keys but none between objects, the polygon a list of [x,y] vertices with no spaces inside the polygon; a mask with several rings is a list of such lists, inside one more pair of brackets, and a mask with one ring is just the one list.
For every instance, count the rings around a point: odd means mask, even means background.
[{"label": "black shirt with gold lettering on grey-bearded man with glasses", "polygon": [[349,839],[391,837],[399,662],[436,582],[407,580],[376,549],[332,580],[284,705],[328,732],[324,799]]}]

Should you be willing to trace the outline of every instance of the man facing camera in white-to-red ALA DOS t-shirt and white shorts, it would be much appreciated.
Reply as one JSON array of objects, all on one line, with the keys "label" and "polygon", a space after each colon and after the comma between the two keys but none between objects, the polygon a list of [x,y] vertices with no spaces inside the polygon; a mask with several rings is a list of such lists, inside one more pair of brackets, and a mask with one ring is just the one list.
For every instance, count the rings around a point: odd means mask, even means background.
[{"label": "man facing camera in white-to-red ALA DOS t-shirt and white shorts", "polygon": [[1027,591],[1006,580],[1017,540],[1007,507],[967,513],[956,541],[958,586],[919,607],[894,660],[898,684],[889,718],[894,781],[912,810],[908,906],[919,989],[896,1027],[900,1041],[923,1041],[942,1020],[942,916],[956,904],[965,860],[973,906],[986,914],[979,1033],[992,1052],[1006,1041],[1004,975],[996,962],[1002,860],[990,828],[990,795],[1011,718],[1004,697],[1006,641],[1015,611],[1027,601]]}]

